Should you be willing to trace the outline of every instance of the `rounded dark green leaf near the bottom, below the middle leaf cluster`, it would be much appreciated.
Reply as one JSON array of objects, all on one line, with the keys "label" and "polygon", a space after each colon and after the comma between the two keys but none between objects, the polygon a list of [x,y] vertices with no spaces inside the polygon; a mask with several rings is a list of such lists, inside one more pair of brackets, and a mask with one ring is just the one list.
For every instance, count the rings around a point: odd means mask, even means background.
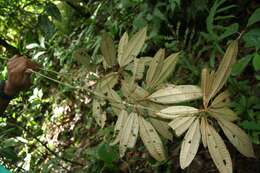
[{"label": "rounded dark green leaf near the bottom, below the middle leaf cluster", "polygon": [[101,143],[97,148],[98,157],[106,163],[112,163],[119,159],[119,153],[115,146],[110,146],[107,143]]}]

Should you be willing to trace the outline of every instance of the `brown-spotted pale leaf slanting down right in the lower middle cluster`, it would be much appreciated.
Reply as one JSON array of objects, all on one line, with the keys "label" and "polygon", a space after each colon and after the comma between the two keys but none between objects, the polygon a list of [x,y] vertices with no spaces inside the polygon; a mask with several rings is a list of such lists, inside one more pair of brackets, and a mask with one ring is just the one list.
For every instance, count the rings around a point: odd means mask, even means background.
[{"label": "brown-spotted pale leaf slanting down right in the lower middle cluster", "polygon": [[150,122],[139,116],[141,139],[153,158],[165,160],[165,151],[162,141]]}]

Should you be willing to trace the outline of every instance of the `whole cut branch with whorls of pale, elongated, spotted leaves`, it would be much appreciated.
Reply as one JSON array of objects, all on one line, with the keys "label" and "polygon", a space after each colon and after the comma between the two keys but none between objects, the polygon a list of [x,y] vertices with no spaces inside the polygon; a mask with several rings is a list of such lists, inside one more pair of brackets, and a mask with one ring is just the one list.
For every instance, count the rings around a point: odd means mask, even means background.
[{"label": "whole cut branch with whorls of pale, elongated, spotted leaves", "polygon": [[[230,154],[219,129],[240,153],[254,157],[249,137],[234,124],[238,117],[229,108],[228,91],[222,91],[237,57],[238,40],[228,45],[216,71],[202,70],[201,86],[173,85],[167,79],[180,52],[165,58],[165,50],[159,49],[153,57],[138,57],[146,32],[145,27],[130,39],[124,33],[117,48],[108,34],[102,36],[104,75],[95,84],[92,112],[101,127],[108,114],[117,116],[111,145],[119,144],[120,156],[134,148],[140,136],[153,158],[166,160],[161,137],[172,140],[172,128],[177,137],[184,135],[180,149],[182,169],[191,164],[202,141],[219,171],[232,172]],[[199,99],[199,108],[188,105]]]}]

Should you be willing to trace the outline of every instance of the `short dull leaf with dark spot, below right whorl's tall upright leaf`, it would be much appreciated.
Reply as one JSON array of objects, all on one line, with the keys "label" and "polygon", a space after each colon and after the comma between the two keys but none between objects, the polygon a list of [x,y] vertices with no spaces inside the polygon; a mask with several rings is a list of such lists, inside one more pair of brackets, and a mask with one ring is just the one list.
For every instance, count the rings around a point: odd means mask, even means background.
[{"label": "short dull leaf with dark spot, below right whorl's tall upright leaf", "polygon": [[230,104],[229,93],[224,91],[220,93],[211,103],[210,108],[223,108]]}]

